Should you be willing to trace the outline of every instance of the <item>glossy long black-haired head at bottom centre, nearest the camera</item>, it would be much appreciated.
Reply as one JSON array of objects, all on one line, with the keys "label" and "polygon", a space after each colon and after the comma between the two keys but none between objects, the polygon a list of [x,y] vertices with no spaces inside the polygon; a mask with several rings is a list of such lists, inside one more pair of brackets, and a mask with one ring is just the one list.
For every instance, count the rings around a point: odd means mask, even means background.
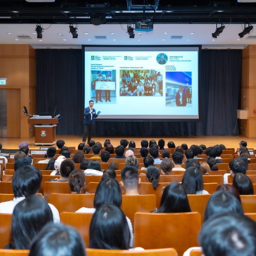
[{"label": "glossy long black-haired head at bottom centre, nearest the camera", "polygon": [[[129,222],[128,222],[129,223]],[[101,205],[90,224],[89,247],[93,249],[128,250],[133,240],[131,227],[119,205]]]}]

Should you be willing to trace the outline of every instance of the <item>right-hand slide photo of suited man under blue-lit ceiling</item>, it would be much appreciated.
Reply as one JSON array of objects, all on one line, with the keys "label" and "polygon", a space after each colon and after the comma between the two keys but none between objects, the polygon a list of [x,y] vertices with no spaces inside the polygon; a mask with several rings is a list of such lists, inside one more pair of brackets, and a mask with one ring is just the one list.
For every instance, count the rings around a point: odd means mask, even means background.
[{"label": "right-hand slide photo of suited man under blue-lit ceiling", "polygon": [[165,106],[192,107],[192,72],[165,72]]}]

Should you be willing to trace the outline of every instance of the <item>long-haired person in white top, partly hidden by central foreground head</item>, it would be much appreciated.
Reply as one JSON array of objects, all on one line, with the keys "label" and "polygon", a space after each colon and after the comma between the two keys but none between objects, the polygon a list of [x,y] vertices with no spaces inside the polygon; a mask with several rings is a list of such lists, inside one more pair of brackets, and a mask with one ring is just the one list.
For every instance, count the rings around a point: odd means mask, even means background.
[{"label": "long-haired person in white top, partly hidden by central foreground head", "polygon": [[[76,212],[95,212],[95,211],[97,212],[100,206],[102,206],[103,204],[112,204],[118,208],[121,207],[121,204],[122,204],[121,188],[118,182],[114,179],[106,178],[100,181],[95,191],[95,196],[93,200],[94,208],[82,207]],[[113,216],[113,217],[116,218],[117,216]],[[132,247],[132,242],[133,242],[132,223],[128,217],[125,217],[125,219],[126,219],[126,223],[129,226],[128,230],[130,230],[130,234],[131,234],[131,239],[129,240],[129,243],[130,243],[130,246]],[[90,229],[90,232],[91,232],[91,229]],[[99,232],[99,230],[97,230],[97,232]],[[113,239],[112,236],[111,236],[111,239]]]}]

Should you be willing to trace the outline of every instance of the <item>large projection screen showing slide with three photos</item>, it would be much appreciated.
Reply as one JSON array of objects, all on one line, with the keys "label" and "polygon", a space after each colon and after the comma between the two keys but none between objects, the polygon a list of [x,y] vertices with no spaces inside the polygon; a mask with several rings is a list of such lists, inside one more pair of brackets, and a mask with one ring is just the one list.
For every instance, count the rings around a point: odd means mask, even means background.
[{"label": "large projection screen showing slide with three photos", "polygon": [[198,119],[199,47],[84,47],[85,102],[101,119]]}]

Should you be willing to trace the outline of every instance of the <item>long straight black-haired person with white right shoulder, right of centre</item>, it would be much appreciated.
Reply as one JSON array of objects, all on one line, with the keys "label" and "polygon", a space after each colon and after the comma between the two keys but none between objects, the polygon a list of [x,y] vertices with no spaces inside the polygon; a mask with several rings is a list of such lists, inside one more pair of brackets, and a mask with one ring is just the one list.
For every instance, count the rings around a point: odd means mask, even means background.
[{"label": "long straight black-haired person with white right shoulder, right of centre", "polygon": [[194,166],[186,169],[186,172],[183,174],[181,184],[185,188],[187,194],[209,194],[206,190],[204,190],[202,173]]}]

